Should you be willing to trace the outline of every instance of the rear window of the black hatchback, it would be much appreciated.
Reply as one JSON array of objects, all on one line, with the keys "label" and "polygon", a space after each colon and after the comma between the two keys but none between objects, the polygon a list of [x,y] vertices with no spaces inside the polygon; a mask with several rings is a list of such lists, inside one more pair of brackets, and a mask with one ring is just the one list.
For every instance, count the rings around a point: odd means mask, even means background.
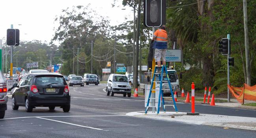
[{"label": "rear window of the black hatchback", "polygon": [[59,75],[39,75],[39,76],[36,76],[35,85],[47,86],[47,85],[50,85],[50,84],[67,85],[66,82],[64,81],[63,76],[59,76]]}]

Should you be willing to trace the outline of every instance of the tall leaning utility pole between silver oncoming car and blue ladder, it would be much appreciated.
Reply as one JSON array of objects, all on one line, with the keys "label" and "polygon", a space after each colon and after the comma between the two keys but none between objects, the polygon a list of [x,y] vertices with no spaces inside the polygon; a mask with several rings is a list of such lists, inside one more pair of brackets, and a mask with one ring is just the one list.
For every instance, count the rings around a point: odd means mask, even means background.
[{"label": "tall leaning utility pole between silver oncoming car and blue ladder", "polygon": [[140,5],[141,0],[138,3],[138,17],[137,17],[137,30],[136,30],[136,59],[135,59],[135,73],[133,78],[134,88],[138,88],[138,54],[139,54],[139,40],[140,40]]}]

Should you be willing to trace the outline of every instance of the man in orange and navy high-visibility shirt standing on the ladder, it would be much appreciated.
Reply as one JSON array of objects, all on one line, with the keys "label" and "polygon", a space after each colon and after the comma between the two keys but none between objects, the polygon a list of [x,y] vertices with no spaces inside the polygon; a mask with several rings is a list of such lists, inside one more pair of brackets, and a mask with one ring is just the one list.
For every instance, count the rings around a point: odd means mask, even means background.
[{"label": "man in orange and navy high-visibility shirt standing on the ladder", "polygon": [[163,61],[163,65],[166,65],[166,49],[167,49],[167,32],[165,30],[165,25],[162,25],[158,30],[153,34],[154,45],[155,48],[155,62],[157,62],[157,73],[161,73],[161,59]]}]

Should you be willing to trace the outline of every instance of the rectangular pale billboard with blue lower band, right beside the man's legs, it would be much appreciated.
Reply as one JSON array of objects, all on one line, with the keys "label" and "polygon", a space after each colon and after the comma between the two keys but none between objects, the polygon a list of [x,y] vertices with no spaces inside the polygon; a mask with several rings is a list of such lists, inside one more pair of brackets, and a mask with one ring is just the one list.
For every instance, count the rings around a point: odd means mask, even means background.
[{"label": "rectangular pale billboard with blue lower band, right beside the man's legs", "polygon": [[167,49],[165,58],[166,58],[166,62],[181,62],[181,50]]}]

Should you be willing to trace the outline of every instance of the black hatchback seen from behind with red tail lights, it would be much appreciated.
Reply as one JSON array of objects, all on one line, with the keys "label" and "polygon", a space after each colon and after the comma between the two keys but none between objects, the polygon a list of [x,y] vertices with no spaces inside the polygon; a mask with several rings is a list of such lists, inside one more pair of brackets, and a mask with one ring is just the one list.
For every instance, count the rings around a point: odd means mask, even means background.
[{"label": "black hatchback seen from behind with red tail lights", "polygon": [[24,76],[19,84],[13,84],[13,87],[13,110],[25,106],[26,112],[32,112],[36,106],[49,107],[50,110],[60,106],[64,112],[69,112],[69,88],[60,74],[31,73]]}]

